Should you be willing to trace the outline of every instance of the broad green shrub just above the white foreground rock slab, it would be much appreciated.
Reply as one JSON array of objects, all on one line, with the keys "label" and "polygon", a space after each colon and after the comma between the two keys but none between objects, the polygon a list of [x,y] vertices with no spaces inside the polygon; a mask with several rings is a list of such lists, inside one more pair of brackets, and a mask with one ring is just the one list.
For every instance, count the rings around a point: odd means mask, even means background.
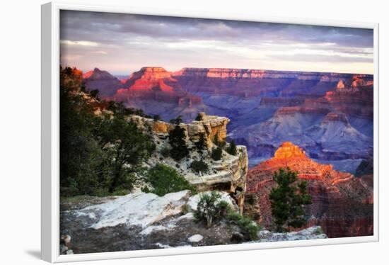
[{"label": "broad green shrub just above the white foreground rock slab", "polygon": [[150,192],[158,196],[183,190],[195,192],[194,186],[178,174],[178,171],[164,164],[152,167],[146,174],[146,181],[153,186]]}]

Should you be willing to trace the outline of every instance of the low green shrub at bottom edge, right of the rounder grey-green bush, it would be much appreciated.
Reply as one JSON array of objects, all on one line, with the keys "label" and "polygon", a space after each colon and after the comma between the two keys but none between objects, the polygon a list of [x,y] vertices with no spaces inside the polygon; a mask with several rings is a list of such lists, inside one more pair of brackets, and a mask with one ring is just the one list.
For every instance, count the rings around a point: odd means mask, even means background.
[{"label": "low green shrub at bottom edge, right of the rounder grey-green bush", "polygon": [[250,240],[258,239],[258,232],[260,232],[260,227],[250,218],[231,210],[226,216],[226,220],[229,224],[237,225],[246,238]]}]

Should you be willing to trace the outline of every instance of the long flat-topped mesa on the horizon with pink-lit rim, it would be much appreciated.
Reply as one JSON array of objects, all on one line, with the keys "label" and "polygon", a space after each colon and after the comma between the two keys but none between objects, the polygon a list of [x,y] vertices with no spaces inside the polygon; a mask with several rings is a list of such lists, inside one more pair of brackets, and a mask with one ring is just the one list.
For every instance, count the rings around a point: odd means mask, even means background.
[{"label": "long flat-topped mesa on the horizon with pink-lit rim", "polygon": [[[272,71],[257,69],[184,68],[173,72],[182,87],[191,92],[240,96],[295,96],[296,94],[325,94],[340,79],[349,80],[353,74]],[[360,75],[361,79],[371,78]]]}]

